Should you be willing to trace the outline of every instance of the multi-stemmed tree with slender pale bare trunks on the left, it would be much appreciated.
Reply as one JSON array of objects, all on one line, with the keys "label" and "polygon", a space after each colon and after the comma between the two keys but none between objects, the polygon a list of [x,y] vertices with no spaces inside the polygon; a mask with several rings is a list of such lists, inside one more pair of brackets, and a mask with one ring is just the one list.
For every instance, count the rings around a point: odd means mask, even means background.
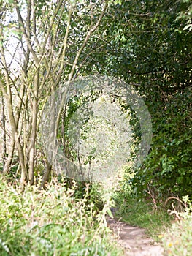
[{"label": "multi-stemmed tree with slender pale bare trunks on the left", "polygon": [[34,184],[37,133],[46,99],[74,78],[107,6],[108,1],[1,1],[0,89],[11,127],[4,173],[9,172],[16,149],[21,184]]}]

